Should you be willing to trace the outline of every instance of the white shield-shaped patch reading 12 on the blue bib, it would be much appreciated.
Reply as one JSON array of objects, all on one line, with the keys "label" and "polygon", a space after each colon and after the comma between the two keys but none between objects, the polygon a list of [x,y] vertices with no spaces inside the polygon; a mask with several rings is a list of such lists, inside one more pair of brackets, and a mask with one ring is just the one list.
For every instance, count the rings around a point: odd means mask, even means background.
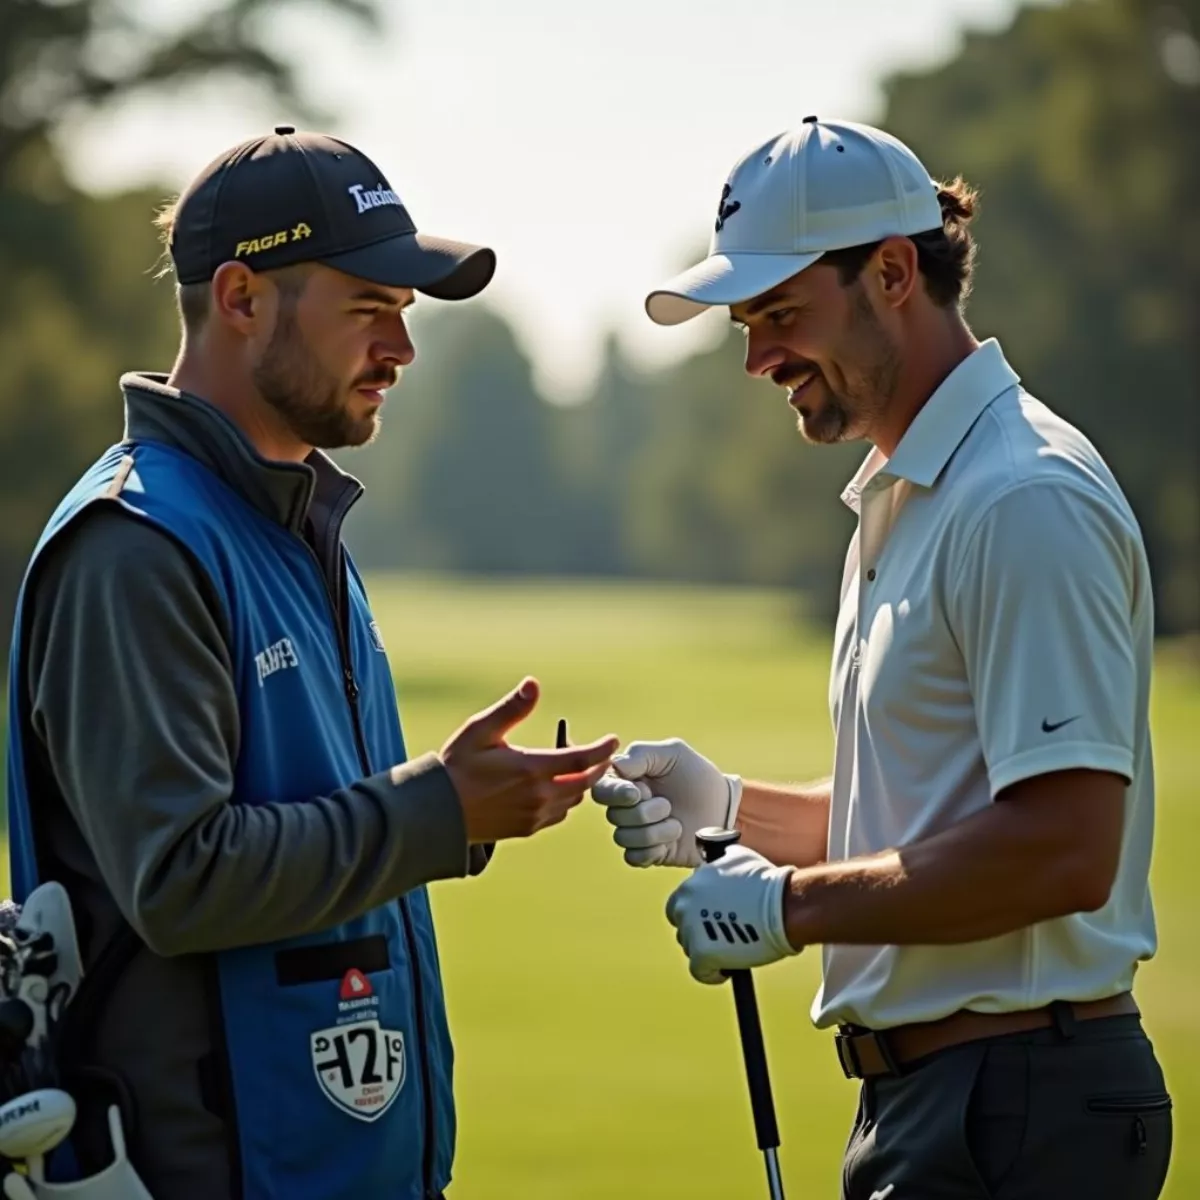
[{"label": "white shield-shaped patch reading 12 on the blue bib", "polygon": [[310,1034],[312,1069],[326,1099],[360,1121],[377,1121],[404,1086],[404,1034],[378,1020]]}]

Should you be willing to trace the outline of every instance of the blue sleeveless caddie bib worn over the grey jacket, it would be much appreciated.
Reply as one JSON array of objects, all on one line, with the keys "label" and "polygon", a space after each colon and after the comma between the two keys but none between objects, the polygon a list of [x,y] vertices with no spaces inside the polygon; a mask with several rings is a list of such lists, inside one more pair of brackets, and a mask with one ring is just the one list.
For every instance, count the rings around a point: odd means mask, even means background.
[{"label": "blue sleeveless caddie bib worn over the grey jacket", "polygon": [[[224,607],[241,716],[233,804],[288,804],[406,758],[391,672],[348,553],[338,628],[306,541],[154,442],[108,450],[34,552],[120,503],[196,558]],[[18,902],[40,882],[24,769],[25,584],[10,658],[8,838]],[[235,931],[232,931],[235,938]],[[233,940],[233,938],[232,938]],[[452,1049],[424,888],[337,928],[215,954],[234,1176],[246,1200],[427,1200],[450,1182]]]}]

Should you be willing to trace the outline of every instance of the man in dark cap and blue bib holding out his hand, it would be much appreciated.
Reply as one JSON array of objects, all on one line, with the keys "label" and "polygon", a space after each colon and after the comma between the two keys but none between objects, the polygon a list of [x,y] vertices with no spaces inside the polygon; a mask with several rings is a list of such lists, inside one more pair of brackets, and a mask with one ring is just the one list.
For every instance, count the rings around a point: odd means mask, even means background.
[{"label": "man in dark cap and blue bib holding out his hand", "polygon": [[563,820],[616,739],[508,746],[527,679],[409,761],[342,542],[361,488],[323,450],[374,436],[414,293],[473,296],[494,256],[288,126],[162,224],[179,356],[122,377],[125,436],[50,518],[12,654],[14,894],[66,886],[88,972],[72,1148],[103,1168],[119,1099],[156,1200],[432,1200],[455,1106],[425,886]]}]

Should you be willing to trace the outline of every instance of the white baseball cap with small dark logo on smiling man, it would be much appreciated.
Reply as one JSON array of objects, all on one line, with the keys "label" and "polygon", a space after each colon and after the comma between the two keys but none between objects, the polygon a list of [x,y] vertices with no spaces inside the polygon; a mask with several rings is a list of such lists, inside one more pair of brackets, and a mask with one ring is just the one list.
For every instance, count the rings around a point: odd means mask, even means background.
[{"label": "white baseball cap with small dark logo on smiling man", "polygon": [[646,298],[660,325],[742,304],[826,251],[942,228],[937,184],[898,138],[805,116],[743,156],[718,208],[708,258]]}]

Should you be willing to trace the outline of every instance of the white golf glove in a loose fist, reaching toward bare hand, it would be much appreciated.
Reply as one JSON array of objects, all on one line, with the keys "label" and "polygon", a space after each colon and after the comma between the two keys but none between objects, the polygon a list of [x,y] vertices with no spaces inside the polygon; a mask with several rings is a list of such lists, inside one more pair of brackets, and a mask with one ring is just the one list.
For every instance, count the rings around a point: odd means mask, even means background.
[{"label": "white golf glove in a loose fist, reaching toward bare hand", "polygon": [[630,866],[698,866],[696,832],[732,829],[742,780],[725,775],[686,742],[631,742],[592,798],[616,826],[612,840]]}]

